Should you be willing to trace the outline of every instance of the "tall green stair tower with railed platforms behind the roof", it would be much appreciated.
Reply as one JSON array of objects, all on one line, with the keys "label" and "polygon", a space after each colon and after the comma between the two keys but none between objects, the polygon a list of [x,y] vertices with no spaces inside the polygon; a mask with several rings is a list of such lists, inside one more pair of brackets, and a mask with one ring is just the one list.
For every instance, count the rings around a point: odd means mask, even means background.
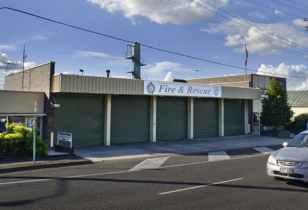
[{"label": "tall green stair tower with railed platforms behind the roof", "polygon": [[[142,73],[140,72],[140,66],[146,66],[147,61],[140,56],[140,43],[135,42],[134,45],[127,45],[125,53],[126,59],[132,59],[132,66],[126,67],[127,73],[132,73],[134,79],[141,79]],[[146,78],[146,76],[142,75]]]}]

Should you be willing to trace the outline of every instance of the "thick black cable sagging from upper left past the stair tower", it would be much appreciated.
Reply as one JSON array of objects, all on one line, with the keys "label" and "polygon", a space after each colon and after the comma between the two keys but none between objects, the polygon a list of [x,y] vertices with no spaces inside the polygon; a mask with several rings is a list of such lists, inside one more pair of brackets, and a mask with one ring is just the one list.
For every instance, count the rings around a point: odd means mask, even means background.
[{"label": "thick black cable sagging from upper left past the stair tower", "polygon": [[[2,7],[2,8],[0,8],[0,9],[10,9],[10,10],[18,11],[18,12],[21,12],[21,13],[29,14],[29,15],[34,16],[34,17],[39,17],[39,18],[42,18],[42,19],[45,19],[45,20],[48,20],[48,21],[56,22],[56,23],[59,23],[59,24],[62,24],[62,25],[67,25],[67,26],[70,26],[70,27],[73,27],[73,28],[76,28],[76,29],[88,31],[88,32],[95,33],[95,34],[99,34],[99,35],[106,36],[106,37],[110,37],[110,38],[113,38],[113,39],[116,39],[116,40],[121,40],[121,41],[125,41],[125,42],[134,43],[134,42],[127,41],[127,40],[124,40],[124,39],[120,39],[120,38],[117,38],[117,37],[108,36],[108,35],[106,35],[106,34],[102,34],[102,33],[94,32],[94,31],[90,31],[90,30],[87,30],[87,29],[82,29],[82,28],[79,28],[79,27],[76,27],[76,26],[73,26],[73,25],[68,25],[68,24],[65,24],[65,23],[61,23],[61,22],[58,22],[58,21],[54,21],[54,20],[51,20],[51,19],[47,19],[47,18],[44,18],[44,17],[40,17],[40,16],[38,16],[38,15],[30,14],[30,13],[23,12],[23,11],[20,11],[20,10],[15,10],[15,9],[12,9],[12,8],[9,8],[9,7]],[[201,59],[201,58],[197,58],[197,57],[193,57],[193,56],[188,56],[188,55],[180,54],[180,53],[177,53],[177,52],[172,52],[172,51],[168,51],[168,50],[163,50],[163,49],[159,49],[159,48],[155,48],[155,47],[151,47],[151,46],[147,46],[147,45],[142,45],[142,44],[140,44],[140,45],[141,45],[141,46],[144,46],[144,47],[147,47],[147,48],[160,50],[160,51],[163,51],[163,52],[169,52],[169,53],[172,53],[172,54],[175,54],[175,55],[180,55],[180,56],[184,56],[184,57],[188,57],[188,58],[193,58],[193,59],[196,59],[196,60],[202,60],[202,61],[206,61],[206,62],[210,62],[210,63],[214,63],[214,64],[220,64],[220,65],[224,65],[224,66],[229,66],[229,67],[233,67],[233,68],[245,69],[245,68],[238,67],[238,66],[233,66],[233,65],[228,65],[228,64],[222,64],[222,63],[218,63],[218,62],[214,62],[214,61],[210,61],[210,60],[205,60],[205,59]],[[261,71],[257,71],[257,70],[253,70],[253,69],[249,69],[249,68],[247,68],[247,70],[249,70],[249,71],[255,71],[255,72],[261,72]],[[290,76],[290,75],[283,75],[283,74],[270,73],[270,72],[262,72],[262,73],[275,74],[275,75],[281,75],[281,76]],[[290,77],[308,79],[308,77],[299,77],[299,76],[290,76]]]}]

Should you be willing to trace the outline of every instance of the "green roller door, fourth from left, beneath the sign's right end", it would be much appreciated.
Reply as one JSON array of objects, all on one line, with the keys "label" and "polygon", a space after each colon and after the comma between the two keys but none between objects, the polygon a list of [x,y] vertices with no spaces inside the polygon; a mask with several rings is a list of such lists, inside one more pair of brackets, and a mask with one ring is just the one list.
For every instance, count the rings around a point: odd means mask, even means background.
[{"label": "green roller door, fourth from left, beneath the sign's right end", "polygon": [[218,136],[218,99],[193,99],[193,138]]}]

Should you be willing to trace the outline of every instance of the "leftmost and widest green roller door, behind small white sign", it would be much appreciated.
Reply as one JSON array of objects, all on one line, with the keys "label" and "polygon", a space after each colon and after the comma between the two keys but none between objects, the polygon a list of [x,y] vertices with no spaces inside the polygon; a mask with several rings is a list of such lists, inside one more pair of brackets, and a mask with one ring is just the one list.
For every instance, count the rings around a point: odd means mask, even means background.
[{"label": "leftmost and widest green roller door, behind small white sign", "polygon": [[[72,146],[95,146],[104,144],[103,95],[71,94],[55,95],[60,107],[54,107],[54,140],[57,133],[72,134]],[[60,141],[60,145],[70,146],[69,142]]]}]

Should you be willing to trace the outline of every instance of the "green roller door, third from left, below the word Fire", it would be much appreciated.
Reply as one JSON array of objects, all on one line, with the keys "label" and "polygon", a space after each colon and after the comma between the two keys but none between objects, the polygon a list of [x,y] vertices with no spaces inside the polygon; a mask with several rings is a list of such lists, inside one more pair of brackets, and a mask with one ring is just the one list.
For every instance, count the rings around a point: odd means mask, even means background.
[{"label": "green roller door, third from left, below the word Fire", "polygon": [[156,140],[187,138],[187,98],[156,98]]}]

